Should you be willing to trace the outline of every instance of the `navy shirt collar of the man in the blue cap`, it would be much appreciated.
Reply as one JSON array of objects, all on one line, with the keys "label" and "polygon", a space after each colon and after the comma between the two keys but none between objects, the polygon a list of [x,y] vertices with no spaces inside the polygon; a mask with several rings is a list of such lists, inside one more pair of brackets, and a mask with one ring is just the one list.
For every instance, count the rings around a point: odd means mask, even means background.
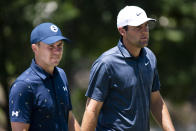
[{"label": "navy shirt collar of the man in the blue cap", "polygon": [[[51,77],[51,75],[49,73],[47,73],[46,71],[44,71],[39,65],[37,65],[35,63],[35,59],[32,60],[31,68],[43,80],[45,80],[48,77]],[[56,74],[55,73],[56,71],[57,71],[57,69],[55,67],[55,69],[54,69],[54,75]]]}]

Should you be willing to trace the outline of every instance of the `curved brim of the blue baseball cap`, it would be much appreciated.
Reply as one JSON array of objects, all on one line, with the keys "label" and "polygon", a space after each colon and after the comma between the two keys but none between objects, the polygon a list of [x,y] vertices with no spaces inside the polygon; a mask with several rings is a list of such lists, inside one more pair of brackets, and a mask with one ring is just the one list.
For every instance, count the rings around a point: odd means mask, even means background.
[{"label": "curved brim of the blue baseball cap", "polygon": [[50,45],[50,44],[53,44],[53,43],[55,43],[59,40],[64,40],[68,43],[70,42],[70,40],[68,38],[64,37],[64,36],[51,36],[51,37],[48,37],[48,38],[46,38],[44,40],[41,40],[41,41]]}]

